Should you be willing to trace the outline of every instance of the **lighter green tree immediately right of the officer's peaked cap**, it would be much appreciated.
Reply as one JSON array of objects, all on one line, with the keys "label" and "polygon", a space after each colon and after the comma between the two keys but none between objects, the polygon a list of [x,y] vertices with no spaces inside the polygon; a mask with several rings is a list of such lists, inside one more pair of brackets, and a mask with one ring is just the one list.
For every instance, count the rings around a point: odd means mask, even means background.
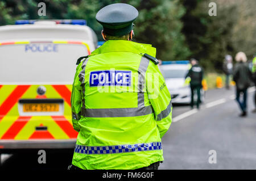
[{"label": "lighter green tree immediately right of the officer's peaked cap", "polygon": [[139,10],[135,21],[136,40],[158,48],[157,57],[163,60],[183,60],[190,51],[181,33],[181,17],[185,13],[179,1],[142,0],[134,4]]}]

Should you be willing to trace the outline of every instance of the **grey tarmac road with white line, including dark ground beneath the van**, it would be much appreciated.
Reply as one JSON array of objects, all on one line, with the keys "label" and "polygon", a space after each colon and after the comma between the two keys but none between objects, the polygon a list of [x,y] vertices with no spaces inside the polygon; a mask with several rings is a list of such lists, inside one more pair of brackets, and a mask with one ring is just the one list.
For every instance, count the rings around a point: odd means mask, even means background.
[{"label": "grey tarmac road with white line, including dark ground beneath the van", "polygon": [[[175,106],[173,123],[163,137],[164,162],[159,169],[256,169],[256,113],[254,88],[249,89],[245,118],[234,100],[234,90],[215,89],[206,93],[200,110]],[[209,163],[209,150],[217,163]],[[46,164],[38,163],[38,150],[2,155],[2,169],[66,170],[72,150],[46,150]]]}]

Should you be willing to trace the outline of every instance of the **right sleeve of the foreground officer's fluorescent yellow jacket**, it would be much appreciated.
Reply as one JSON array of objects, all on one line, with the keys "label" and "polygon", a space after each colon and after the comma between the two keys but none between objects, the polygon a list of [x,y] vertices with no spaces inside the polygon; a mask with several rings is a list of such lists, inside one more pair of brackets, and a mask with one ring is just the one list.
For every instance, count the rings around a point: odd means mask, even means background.
[{"label": "right sleeve of the foreground officer's fluorescent yellow jacket", "polygon": [[154,110],[156,124],[162,138],[172,122],[171,95],[157,65],[150,61],[146,71],[148,98]]}]

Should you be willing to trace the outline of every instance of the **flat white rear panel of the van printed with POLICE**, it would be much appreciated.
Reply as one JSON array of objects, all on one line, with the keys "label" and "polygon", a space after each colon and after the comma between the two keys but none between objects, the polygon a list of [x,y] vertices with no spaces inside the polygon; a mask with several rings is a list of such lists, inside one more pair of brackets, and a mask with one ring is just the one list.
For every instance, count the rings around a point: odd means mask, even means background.
[{"label": "flat white rear panel of the van printed with POLICE", "polygon": [[0,45],[0,84],[72,84],[80,44]]}]

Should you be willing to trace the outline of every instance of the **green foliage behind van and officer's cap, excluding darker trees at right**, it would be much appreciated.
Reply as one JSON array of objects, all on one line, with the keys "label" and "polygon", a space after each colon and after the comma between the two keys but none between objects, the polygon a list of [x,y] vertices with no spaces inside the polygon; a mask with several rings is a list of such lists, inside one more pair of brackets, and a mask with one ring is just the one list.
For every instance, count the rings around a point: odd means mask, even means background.
[{"label": "green foliage behind van and officer's cap, excluding darker trees at right", "polygon": [[97,11],[112,3],[129,3],[139,10],[135,41],[152,44],[158,49],[157,57],[163,60],[183,60],[191,54],[181,33],[180,19],[185,9],[177,0],[46,0],[46,16],[38,16],[39,2],[41,0],[3,0],[0,24],[14,24],[16,19],[86,19],[102,40],[102,27],[95,19]]}]

